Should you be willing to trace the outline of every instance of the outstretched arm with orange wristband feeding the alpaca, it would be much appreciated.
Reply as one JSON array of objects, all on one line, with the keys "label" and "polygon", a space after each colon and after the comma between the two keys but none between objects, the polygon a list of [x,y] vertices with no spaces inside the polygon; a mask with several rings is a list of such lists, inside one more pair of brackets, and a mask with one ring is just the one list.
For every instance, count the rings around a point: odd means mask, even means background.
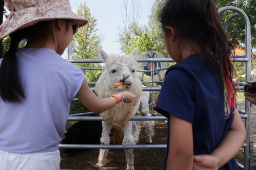
[{"label": "outstretched arm with orange wristband feeding the alpaca", "polygon": [[[124,103],[131,103],[135,101],[136,96],[134,94],[128,91],[124,91],[123,94],[125,96],[123,100]],[[106,110],[109,110],[116,104],[116,100],[113,97],[99,99],[88,86],[86,79],[84,80],[76,96],[80,100],[80,102],[93,113],[102,113]],[[118,94],[118,96],[121,100],[122,94]]]}]

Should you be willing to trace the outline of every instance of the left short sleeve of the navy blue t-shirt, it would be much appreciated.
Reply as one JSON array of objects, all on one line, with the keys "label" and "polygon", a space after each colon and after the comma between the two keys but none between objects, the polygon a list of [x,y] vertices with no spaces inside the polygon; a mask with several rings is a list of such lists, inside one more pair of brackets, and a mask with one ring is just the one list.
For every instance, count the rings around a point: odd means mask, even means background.
[{"label": "left short sleeve of the navy blue t-shirt", "polygon": [[172,69],[165,77],[155,110],[169,118],[169,114],[193,123],[195,113],[194,81],[182,69]]}]

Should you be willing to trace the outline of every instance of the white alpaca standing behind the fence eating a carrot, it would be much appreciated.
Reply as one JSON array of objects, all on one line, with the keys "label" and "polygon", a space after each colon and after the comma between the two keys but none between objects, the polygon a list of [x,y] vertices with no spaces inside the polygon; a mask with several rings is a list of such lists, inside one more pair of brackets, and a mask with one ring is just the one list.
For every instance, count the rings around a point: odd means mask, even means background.
[{"label": "white alpaca standing behind the fence eating a carrot", "polygon": [[[119,104],[101,113],[105,121],[102,122],[102,144],[109,144],[109,133],[111,123],[122,124],[124,128],[124,139],[122,144],[136,144],[139,142],[140,121],[128,121],[140,110],[144,116],[150,116],[148,112],[149,92],[142,92],[142,82],[136,76],[137,62],[135,55],[137,48],[130,55],[108,56],[102,49],[100,55],[105,60],[105,70],[95,85],[95,92],[99,98],[109,98],[112,94],[122,91],[130,91],[136,95],[135,102],[130,104]],[[123,85],[113,86],[113,83],[124,82]],[[154,121],[144,121],[146,124],[147,141],[151,143],[154,135]],[[96,167],[103,167],[108,155],[107,149],[101,149]],[[127,167],[126,170],[134,170],[133,150],[125,150]]]}]

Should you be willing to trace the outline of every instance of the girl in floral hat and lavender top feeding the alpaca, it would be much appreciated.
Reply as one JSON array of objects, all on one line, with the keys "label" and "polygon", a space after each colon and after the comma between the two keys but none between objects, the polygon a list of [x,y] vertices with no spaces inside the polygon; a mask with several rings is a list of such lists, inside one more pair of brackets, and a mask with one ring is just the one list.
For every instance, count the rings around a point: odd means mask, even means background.
[{"label": "girl in floral hat and lavender top feeding the alpaca", "polygon": [[[98,99],[84,72],[61,58],[85,18],[68,0],[6,0],[10,11],[0,39],[11,38],[0,59],[0,169],[60,169],[58,144],[72,99],[94,113],[130,103],[130,92]],[[24,48],[19,42],[26,39]],[[123,98],[124,97],[124,98]]]}]

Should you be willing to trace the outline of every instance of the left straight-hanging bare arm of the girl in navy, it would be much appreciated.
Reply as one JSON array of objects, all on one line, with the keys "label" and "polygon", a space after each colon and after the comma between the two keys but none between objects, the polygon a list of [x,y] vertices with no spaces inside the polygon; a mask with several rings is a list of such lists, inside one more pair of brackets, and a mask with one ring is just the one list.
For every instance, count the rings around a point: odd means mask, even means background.
[{"label": "left straight-hanging bare arm of the girl in navy", "polygon": [[170,114],[169,151],[166,169],[192,169],[193,134],[192,124]]}]

